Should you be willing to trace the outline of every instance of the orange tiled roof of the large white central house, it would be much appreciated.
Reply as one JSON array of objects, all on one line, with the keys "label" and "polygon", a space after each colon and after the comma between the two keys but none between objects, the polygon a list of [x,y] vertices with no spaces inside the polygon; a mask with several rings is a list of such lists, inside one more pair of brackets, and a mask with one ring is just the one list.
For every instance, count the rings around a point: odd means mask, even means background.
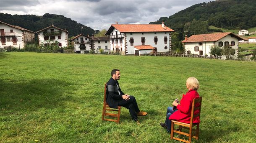
[{"label": "orange tiled roof of the large white central house", "polygon": [[162,24],[112,24],[105,35],[110,35],[110,32],[116,28],[120,32],[174,32],[171,28]]}]

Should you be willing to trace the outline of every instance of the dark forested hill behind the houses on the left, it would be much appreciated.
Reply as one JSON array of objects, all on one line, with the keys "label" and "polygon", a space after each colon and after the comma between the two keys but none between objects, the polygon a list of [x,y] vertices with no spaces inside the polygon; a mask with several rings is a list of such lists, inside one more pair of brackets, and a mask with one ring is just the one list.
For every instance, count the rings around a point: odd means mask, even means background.
[{"label": "dark forested hill behind the houses on the left", "polygon": [[46,13],[43,16],[37,15],[10,15],[0,13],[0,21],[5,23],[20,26],[28,30],[37,32],[43,28],[51,26],[52,23],[54,26],[62,29],[67,29],[68,36],[76,36],[81,34],[81,27],[83,27],[83,34],[94,34],[94,30],[90,27],[84,26],[81,23],[77,23],[71,18],[66,18],[63,15],[55,15]]}]

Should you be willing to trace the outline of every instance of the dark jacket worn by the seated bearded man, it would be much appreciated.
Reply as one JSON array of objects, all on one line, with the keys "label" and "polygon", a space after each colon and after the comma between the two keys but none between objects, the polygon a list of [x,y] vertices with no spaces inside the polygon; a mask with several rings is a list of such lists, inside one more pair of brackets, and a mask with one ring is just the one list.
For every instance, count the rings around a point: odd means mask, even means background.
[{"label": "dark jacket worn by the seated bearded man", "polygon": [[[118,90],[120,92],[120,95],[118,93]],[[118,102],[123,100],[122,95],[124,95],[124,93],[122,92],[118,81],[114,80],[111,77],[110,80],[107,82],[107,104],[111,108],[118,108]]]}]

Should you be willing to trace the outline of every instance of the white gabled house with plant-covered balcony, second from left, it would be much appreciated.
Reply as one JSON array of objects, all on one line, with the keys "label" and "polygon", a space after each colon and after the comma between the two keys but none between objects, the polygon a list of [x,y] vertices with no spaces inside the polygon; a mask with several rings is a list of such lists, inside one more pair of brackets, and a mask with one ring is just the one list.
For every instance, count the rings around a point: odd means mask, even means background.
[{"label": "white gabled house with plant-covered balcony, second from left", "polygon": [[57,43],[58,46],[68,46],[68,31],[57,28],[53,24],[47,28],[37,31],[39,45],[47,46],[50,43]]}]

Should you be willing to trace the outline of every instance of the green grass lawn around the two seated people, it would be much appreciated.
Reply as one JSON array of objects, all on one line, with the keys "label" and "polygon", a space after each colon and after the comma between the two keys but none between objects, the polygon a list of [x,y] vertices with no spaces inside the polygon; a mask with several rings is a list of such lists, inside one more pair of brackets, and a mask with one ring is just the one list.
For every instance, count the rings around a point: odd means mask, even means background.
[{"label": "green grass lawn around the two seated people", "polygon": [[[120,69],[141,125],[102,121],[104,83]],[[0,53],[0,142],[172,142],[159,123],[188,77],[203,97],[199,141],[255,143],[256,62],[182,57]]]}]

